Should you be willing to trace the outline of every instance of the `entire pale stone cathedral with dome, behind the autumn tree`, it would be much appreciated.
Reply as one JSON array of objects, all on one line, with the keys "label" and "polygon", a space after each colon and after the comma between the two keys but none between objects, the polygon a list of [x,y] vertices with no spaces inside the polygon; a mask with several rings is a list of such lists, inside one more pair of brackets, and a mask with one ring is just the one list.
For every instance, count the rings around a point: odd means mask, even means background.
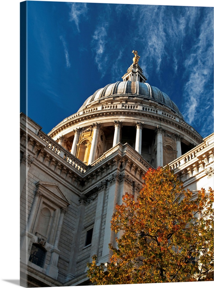
[{"label": "entire pale stone cathedral with dome, behind the autumn tree", "polygon": [[87,262],[111,257],[110,220],[125,192],[138,196],[150,167],[169,164],[184,187],[213,186],[205,139],[149,85],[134,53],[122,81],[88,97],[45,134],[20,114],[20,285],[89,285]]}]

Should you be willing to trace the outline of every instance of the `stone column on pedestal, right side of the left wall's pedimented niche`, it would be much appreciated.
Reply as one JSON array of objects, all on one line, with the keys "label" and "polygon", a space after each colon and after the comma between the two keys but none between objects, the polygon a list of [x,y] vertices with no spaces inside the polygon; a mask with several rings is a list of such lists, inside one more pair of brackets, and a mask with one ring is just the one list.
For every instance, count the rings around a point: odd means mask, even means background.
[{"label": "stone column on pedestal, right side of the left wall's pedimented niche", "polygon": [[50,265],[47,268],[48,276],[50,276],[54,279],[58,278],[57,264],[58,264],[58,259],[59,259],[59,255],[60,255],[60,250],[58,249],[58,244],[59,244],[60,234],[61,234],[61,230],[62,230],[62,226],[63,226],[63,219],[64,219],[64,215],[65,215],[66,211],[67,211],[67,209],[65,209],[65,208],[61,209],[61,213],[60,213],[60,217],[59,217],[59,221],[58,221],[58,226],[57,226],[57,230],[56,230],[56,237],[55,237],[55,241],[54,241],[54,248],[51,250]]}]

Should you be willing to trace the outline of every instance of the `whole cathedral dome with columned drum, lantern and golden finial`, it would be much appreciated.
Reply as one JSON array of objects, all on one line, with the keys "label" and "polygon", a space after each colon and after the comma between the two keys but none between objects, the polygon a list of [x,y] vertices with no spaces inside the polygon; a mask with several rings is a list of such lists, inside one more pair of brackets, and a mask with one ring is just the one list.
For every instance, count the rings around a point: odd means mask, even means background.
[{"label": "whole cathedral dome with columned drum, lantern and golden finial", "polygon": [[98,89],[49,136],[87,165],[118,143],[135,149],[153,167],[166,165],[201,143],[177,105],[146,83],[137,51],[122,81]]}]

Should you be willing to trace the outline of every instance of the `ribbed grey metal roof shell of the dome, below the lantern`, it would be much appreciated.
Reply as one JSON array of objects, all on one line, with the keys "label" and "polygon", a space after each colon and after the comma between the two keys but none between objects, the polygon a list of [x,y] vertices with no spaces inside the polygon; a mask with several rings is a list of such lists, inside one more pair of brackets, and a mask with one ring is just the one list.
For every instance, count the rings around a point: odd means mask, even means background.
[{"label": "ribbed grey metal roof shell of the dome, below the lantern", "polygon": [[103,88],[98,89],[93,95],[88,97],[84,104],[80,107],[79,111],[84,109],[90,109],[96,101],[106,100],[108,97],[114,96],[137,96],[144,99],[151,99],[156,101],[160,105],[167,106],[171,108],[175,113],[177,113],[182,119],[183,116],[179,111],[177,105],[169,98],[169,96],[160,91],[157,87],[150,86],[148,83],[142,83],[139,81],[118,81],[113,84],[108,84]]}]

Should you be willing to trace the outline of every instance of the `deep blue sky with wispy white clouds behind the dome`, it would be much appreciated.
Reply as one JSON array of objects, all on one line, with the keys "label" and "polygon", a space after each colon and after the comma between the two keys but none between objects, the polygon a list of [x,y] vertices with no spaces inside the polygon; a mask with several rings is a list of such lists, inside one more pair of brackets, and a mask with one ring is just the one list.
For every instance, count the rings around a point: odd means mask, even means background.
[{"label": "deep blue sky with wispy white clouds behind the dome", "polygon": [[48,133],[120,81],[132,50],[147,83],[202,137],[213,132],[213,7],[27,1],[28,107]]}]

